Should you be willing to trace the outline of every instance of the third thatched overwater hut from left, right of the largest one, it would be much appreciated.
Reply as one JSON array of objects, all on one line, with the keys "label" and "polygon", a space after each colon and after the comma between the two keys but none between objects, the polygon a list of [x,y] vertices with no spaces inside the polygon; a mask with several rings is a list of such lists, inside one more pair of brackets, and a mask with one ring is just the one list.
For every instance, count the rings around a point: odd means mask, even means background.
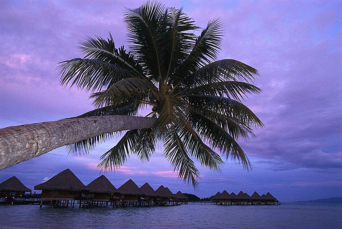
[{"label": "third thatched overwater hut from left, right of the largest one", "polygon": [[92,182],[90,182],[87,186],[89,189],[89,198],[92,199],[91,204],[100,204],[100,206],[108,206],[108,202],[111,201],[115,193],[117,192],[116,188],[110,181],[104,176],[96,178]]}]

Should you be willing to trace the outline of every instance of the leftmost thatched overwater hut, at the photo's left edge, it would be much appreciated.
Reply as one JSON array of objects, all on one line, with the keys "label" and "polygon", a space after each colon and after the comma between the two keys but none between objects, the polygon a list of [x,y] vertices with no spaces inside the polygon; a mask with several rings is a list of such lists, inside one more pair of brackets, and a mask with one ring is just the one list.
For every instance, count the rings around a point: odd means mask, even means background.
[{"label": "leftmost thatched overwater hut, at the photo's left edge", "polygon": [[13,201],[19,198],[21,200],[25,192],[31,192],[18,178],[15,176],[0,183],[0,198],[4,201]]}]

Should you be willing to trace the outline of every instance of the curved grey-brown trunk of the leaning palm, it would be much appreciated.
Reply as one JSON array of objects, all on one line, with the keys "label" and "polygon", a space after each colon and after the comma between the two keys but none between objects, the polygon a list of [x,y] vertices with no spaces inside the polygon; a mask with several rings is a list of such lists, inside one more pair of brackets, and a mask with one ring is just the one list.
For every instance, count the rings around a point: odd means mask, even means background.
[{"label": "curved grey-brown trunk of the leaning palm", "polygon": [[154,118],[111,115],[6,127],[0,129],[0,170],[101,134],[151,128],[155,121]]}]

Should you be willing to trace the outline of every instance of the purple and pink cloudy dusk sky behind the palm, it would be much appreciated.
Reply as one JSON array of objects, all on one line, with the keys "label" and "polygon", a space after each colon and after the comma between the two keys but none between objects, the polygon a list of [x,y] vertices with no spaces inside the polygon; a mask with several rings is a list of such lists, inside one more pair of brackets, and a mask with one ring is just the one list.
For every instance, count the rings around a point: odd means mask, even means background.
[{"label": "purple and pink cloudy dusk sky behind the palm", "polygon": [[[9,3],[12,2],[12,3]],[[257,138],[240,141],[252,171],[228,160],[221,173],[200,168],[199,188],[177,180],[162,149],[149,162],[131,156],[107,178],[118,188],[128,179],[154,189],[200,197],[227,190],[271,192],[278,200],[342,196],[342,1],[164,1],[183,8],[205,27],[214,17],[225,25],[219,59],[258,69],[261,95],[246,99],[265,124]],[[125,7],[143,1],[2,1],[0,8],[0,128],[54,121],[92,110],[88,94],[60,86],[57,63],[81,57],[78,41],[94,35],[116,46],[127,43]],[[0,171],[28,188],[70,168],[88,184],[100,176],[100,156],[117,139],[90,155],[67,156],[64,147]]]}]

